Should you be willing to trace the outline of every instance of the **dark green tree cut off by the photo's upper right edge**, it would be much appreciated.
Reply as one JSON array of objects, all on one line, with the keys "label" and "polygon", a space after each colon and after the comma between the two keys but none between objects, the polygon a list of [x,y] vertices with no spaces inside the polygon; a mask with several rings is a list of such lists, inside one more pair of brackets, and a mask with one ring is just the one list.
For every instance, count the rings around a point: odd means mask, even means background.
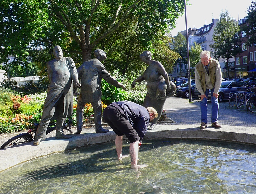
[{"label": "dark green tree cut off by the photo's upper right edge", "polygon": [[253,46],[256,44],[256,0],[252,0],[252,4],[247,10],[248,16],[246,17],[247,25],[241,30],[246,31],[249,35],[248,45]]}]

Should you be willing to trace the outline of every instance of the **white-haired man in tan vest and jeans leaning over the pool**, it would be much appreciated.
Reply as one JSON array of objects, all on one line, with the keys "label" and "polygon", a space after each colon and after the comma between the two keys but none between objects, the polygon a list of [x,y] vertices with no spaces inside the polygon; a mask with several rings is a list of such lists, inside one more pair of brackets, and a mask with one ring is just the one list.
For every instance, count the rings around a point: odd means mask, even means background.
[{"label": "white-haired man in tan vest and jeans leaning over the pool", "polygon": [[207,96],[211,90],[211,126],[221,128],[218,123],[219,113],[219,89],[222,81],[220,64],[217,60],[212,59],[209,51],[200,53],[201,61],[195,66],[195,82],[198,91],[201,94],[201,126],[200,129],[207,127]]}]

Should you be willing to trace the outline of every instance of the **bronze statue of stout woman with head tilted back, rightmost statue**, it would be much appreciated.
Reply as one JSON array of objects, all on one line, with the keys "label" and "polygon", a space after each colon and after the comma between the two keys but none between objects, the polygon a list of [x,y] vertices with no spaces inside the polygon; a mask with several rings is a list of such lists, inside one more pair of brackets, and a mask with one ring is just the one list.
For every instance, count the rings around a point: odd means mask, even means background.
[{"label": "bronze statue of stout woman with head tilted back, rightmost statue", "polygon": [[145,80],[147,83],[147,94],[143,101],[143,107],[153,107],[158,113],[158,117],[153,119],[149,130],[156,127],[157,121],[162,115],[166,98],[168,96],[173,96],[176,90],[175,84],[169,81],[164,66],[161,62],[152,60],[151,56],[152,54],[150,51],[144,51],[140,55],[140,60],[148,64],[148,67],[145,72],[131,84],[134,88],[136,82]]}]

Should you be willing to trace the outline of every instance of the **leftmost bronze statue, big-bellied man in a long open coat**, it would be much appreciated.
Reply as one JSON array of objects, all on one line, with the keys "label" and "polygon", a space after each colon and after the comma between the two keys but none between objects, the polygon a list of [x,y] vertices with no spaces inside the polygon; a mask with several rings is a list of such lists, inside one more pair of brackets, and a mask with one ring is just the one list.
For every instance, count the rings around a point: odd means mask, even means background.
[{"label": "leftmost bronze statue, big-bellied man in a long open coat", "polygon": [[[71,57],[63,57],[60,46],[53,49],[55,59],[47,63],[48,80],[43,114],[36,131],[34,145],[45,140],[46,130],[51,119],[56,119],[56,136],[58,139],[71,138],[64,135],[63,128],[67,116],[73,113],[73,82],[76,87],[81,85],[78,81],[76,66]],[[72,81],[73,80],[73,81]]]}]

